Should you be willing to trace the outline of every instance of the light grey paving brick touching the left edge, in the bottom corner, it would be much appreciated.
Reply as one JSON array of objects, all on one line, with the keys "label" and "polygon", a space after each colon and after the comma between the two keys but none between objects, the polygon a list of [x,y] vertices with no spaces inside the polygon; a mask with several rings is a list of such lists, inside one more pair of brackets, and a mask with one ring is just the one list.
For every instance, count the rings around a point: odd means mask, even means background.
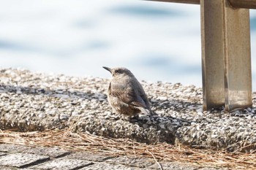
[{"label": "light grey paving brick touching the left edge, in the bottom corner", "polygon": [[33,165],[35,163],[47,161],[48,159],[49,159],[48,156],[33,155],[33,154],[17,152],[17,153],[12,153],[9,155],[2,155],[0,157],[0,165],[23,168],[26,166]]}]

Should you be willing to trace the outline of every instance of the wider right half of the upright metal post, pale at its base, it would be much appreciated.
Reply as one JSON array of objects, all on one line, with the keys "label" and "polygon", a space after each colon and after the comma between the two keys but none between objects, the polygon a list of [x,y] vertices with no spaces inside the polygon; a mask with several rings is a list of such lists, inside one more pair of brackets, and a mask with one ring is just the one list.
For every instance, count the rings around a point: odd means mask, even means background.
[{"label": "wider right half of the upright metal post, pale at its base", "polygon": [[252,107],[249,9],[234,9],[225,1],[225,107]]}]

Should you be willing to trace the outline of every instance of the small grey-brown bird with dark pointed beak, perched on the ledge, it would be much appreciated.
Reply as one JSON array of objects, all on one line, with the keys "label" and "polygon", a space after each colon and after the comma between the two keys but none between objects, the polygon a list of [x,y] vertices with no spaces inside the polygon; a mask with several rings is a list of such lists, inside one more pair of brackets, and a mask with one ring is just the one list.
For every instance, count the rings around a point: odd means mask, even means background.
[{"label": "small grey-brown bird with dark pointed beak, perched on the ledge", "polygon": [[142,85],[129,69],[117,67],[110,69],[103,66],[113,76],[108,86],[108,102],[114,112],[128,116],[140,113],[153,115],[150,104]]}]

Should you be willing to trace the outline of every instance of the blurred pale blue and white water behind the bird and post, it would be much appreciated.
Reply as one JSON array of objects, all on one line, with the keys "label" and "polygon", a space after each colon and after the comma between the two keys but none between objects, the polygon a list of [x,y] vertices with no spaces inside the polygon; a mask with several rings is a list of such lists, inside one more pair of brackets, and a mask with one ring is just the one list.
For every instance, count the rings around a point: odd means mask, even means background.
[{"label": "blurred pale blue and white water behind the bird and post", "polygon": [[[0,5],[0,67],[202,86],[200,6],[156,1],[10,0]],[[256,10],[250,10],[256,90]]]}]

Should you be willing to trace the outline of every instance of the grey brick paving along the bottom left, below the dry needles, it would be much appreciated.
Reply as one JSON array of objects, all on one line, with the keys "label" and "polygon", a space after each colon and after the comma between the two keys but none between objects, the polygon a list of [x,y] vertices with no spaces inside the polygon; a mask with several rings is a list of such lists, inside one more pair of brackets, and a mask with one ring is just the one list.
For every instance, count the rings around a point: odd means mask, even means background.
[{"label": "grey brick paving along the bottom left, below the dry needles", "polygon": [[[147,158],[127,158],[126,156],[110,157],[104,154],[94,154],[92,152],[69,152],[66,150],[56,150],[55,147],[25,147],[18,144],[0,144],[0,147],[7,147],[17,150],[5,150],[0,154],[1,170],[39,170],[39,169],[91,169],[91,170],[154,170],[160,169],[159,165]],[[37,149],[39,148],[39,149]],[[44,150],[44,152],[37,152]],[[60,151],[66,154],[59,155]],[[26,152],[31,152],[30,154]],[[50,155],[53,155],[50,156]],[[56,157],[56,155],[59,155]],[[84,155],[81,158],[81,155]],[[162,169],[174,170],[203,170],[200,166],[180,162],[159,162]],[[214,168],[208,168],[216,170]]]}]

